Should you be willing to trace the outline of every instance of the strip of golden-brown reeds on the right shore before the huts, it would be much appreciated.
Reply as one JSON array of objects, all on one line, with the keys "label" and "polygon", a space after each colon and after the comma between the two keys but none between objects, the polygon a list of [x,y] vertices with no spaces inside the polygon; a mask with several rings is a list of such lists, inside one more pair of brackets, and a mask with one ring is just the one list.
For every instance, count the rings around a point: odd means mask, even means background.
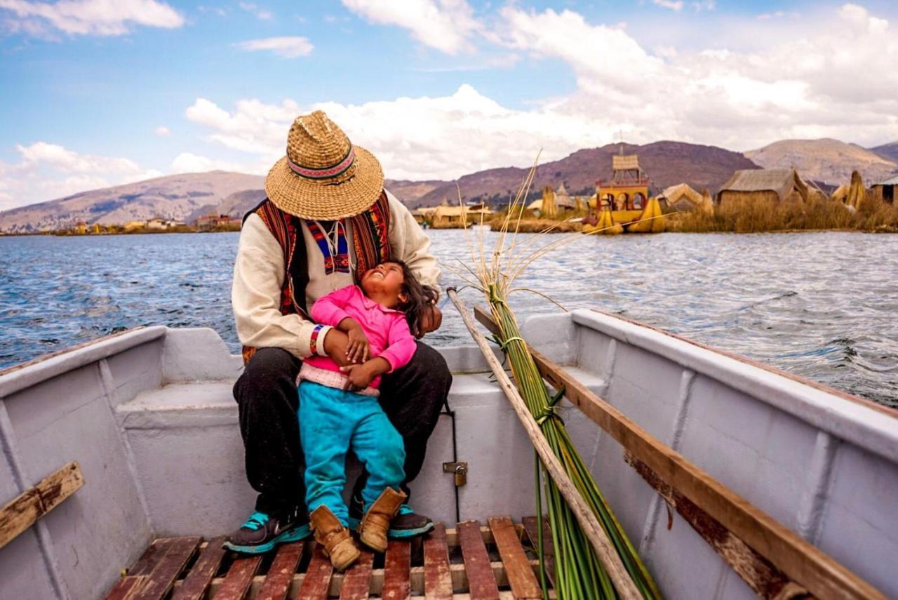
[{"label": "strip of golden-brown reeds on the right shore before the huts", "polygon": [[713,214],[695,211],[667,218],[668,231],[688,233],[818,229],[898,233],[898,205],[877,198],[867,198],[857,210],[830,199],[806,203],[734,201],[714,207]]}]

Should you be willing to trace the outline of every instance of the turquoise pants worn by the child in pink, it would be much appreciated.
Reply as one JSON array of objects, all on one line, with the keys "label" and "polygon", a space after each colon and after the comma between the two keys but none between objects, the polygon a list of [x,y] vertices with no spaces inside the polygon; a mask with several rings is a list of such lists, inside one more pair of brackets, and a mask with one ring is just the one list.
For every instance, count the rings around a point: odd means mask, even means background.
[{"label": "turquoise pants worn by the child in pink", "polygon": [[340,523],[348,525],[342,492],[349,448],[368,472],[362,490],[365,507],[370,507],[384,488],[400,489],[405,479],[405,446],[376,398],[304,381],[299,384],[297,417],[309,512],[324,504]]}]

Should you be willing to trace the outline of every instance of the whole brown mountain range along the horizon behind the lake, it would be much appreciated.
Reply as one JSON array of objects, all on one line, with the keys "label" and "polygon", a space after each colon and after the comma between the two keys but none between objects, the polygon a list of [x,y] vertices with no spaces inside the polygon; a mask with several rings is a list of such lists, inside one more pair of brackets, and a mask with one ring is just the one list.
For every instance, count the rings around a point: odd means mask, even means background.
[{"label": "whole brown mountain range along the horizon behind the lake", "polygon": [[[806,180],[838,185],[858,170],[864,181],[881,181],[898,172],[898,142],[865,149],[834,139],[783,140],[739,154],[716,146],[660,141],[643,146],[610,144],[577,150],[536,168],[532,195],[545,185],[564,183],[572,194],[592,194],[595,181],[612,176],[612,155],[638,154],[650,191],[686,182],[696,190],[716,192],[739,169],[795,167]],[[507,201],[528,169],[500,167],[464,175],[455,181],[387,180],[409,207],[465,200]],[[154,216],[192,222],[209,213],[242,216],[265,198],[265,178],[239,172],[212,171],[169,175],[63,199],[0,212],[0,232],[29,233],[58,229],[78,221],[124,224]]]}]

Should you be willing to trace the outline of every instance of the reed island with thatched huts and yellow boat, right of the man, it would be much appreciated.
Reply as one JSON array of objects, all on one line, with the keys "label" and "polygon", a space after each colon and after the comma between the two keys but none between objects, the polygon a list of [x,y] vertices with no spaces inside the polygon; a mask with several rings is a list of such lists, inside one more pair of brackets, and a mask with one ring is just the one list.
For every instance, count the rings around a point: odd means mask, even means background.
[{"label": "reed island with thatched huts and yellow boat, right of the man", "polygon": [[418,222],[435,229],[488,225],[501,232],[508,218],[520,233],[623,234],[757,233],[850,230],[898,233],[898,176],[870,188],[858,172],[830,193],[795,169],[737,171],[712,197],[680,183],[649,196],[649,181],[635,155],[613,158],[611,181],[596,181],[592,196],[571,196],[562,183],[541,198],[512,206],[459,203],[418,208]]}]

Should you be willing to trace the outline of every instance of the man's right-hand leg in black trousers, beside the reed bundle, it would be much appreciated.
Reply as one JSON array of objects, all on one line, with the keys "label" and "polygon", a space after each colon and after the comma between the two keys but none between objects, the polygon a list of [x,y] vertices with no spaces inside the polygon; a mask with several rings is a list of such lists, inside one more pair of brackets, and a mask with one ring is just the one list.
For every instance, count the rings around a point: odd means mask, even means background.
[{"label": "man's right-hand leg in black trousers, beside the reed bundle", "polygon": [[[401,489],[409,493],[409,481],[413,481],[427,453],[427,439],[436,428],[436,420],[445,405],[452,386],[452,374],[445,358],[435,349],[418,341],[418,349],[409,364],[381,380],[381,406],[393,427],[399,432],[405,446],[405,481]],[[354,525],[361,518],[361,491],[365,487],[364,471],[353,489],[352,517]],[[408,537],[426,532],[433,523],[426,516],[415,515],[408,506],[393,519],[390,535]]]}]

